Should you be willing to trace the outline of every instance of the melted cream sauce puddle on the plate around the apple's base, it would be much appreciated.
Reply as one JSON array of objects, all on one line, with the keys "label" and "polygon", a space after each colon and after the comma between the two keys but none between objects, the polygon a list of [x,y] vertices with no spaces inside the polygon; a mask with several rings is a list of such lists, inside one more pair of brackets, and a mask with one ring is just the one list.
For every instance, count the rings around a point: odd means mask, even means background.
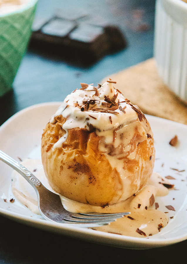
[{"label": "melted cream sauce puddle on the plate around the apple's base", "polygon": [[[28,159],[23,161],[22,164],[27,167],[28,170],[33,172],[46,188],[53,191],[44,174],[41,160]],[[29,185],[29,183],[15,171],[12,174],[12,178],[12,192],[18,201],[28,207],[33,213],[40,214],[38,210],[37,195],[33,187],[31,187],[31,185]],[[168,223],[167,215],[164,212],[159,211],[159,209],[155,209],[154,198],[156,196],[166,196],[169,193],[168,189],[164,187],[162,183],[170,184],[167,179],[162,178],[158,173],[154,172],[148,184],[143,187],[136,196],[132,196],[124,202],[107,206],[105,208],[81,204],[63,196],[60,197],[65,209],[72,212],[130,211],[131,214],[128,216],[117,219],[115,222],[107,226],[92,229],[109,233],[118,233],[125,236],[147,237],[158,233],[160,229]]]}]

